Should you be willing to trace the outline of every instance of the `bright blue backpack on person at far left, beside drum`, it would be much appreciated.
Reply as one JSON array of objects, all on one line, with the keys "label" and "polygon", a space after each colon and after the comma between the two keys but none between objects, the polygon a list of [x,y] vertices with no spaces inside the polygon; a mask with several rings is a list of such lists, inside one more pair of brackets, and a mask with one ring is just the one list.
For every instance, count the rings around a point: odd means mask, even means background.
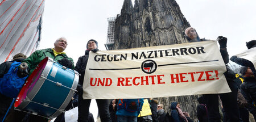
[{"label": "bright blue backpack on person at far left, beside drum", "polygon": [[17,75],[18,66],[21,62],[11,62],[13,64],[11,64],[9,71],[3,75],[3,78],[0,78],[0,92],[10,98],[16,98],[27,77],[19,78]]}]

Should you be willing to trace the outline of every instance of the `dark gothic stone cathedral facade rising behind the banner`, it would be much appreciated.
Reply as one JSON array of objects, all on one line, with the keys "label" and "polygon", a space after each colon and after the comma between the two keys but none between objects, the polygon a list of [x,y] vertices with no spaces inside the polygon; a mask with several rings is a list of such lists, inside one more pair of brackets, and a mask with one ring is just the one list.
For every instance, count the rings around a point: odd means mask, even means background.
[{"label": "dark gothic stone cathedral facade rising behind the banner", "polygon": [[114,45],[108,49],[127,49],[186,42],[190,27],[174,0],[125,0],[115,19]]}]

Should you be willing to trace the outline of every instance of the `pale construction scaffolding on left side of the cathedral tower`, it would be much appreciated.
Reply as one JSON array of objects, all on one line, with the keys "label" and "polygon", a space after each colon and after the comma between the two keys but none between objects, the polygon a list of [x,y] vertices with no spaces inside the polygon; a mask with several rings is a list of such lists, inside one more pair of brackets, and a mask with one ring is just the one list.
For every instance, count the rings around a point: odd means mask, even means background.
[{"label": "pale construction scaffolding on left side of the cathedral tower", "polygon": [[109,45],[114,44],[115,19],[116,19],[116,17],[107,18],[107,20],[109,22],[109,27],[108,27],[107,41],[105,44],[106,50],[109,50],[108,49]]}]

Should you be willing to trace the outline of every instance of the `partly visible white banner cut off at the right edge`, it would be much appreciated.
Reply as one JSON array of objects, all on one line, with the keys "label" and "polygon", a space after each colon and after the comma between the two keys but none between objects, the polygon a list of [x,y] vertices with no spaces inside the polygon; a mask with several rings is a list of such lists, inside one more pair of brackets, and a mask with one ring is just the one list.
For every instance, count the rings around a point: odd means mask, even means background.
[{"label": "partly visible white banner cut off at the right edge", "polygon": [[256,68],[256,47],[247,49],[236,56],[253,62],[254,68]]}]

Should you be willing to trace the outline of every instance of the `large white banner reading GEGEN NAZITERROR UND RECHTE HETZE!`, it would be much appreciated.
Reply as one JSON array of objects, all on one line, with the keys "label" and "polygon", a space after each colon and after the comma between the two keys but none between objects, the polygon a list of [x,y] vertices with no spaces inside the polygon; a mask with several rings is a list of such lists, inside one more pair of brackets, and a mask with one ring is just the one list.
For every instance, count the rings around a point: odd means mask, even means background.
[{"label": "large white banner reading GEGEN NAZITERROR UND RECHTE HETZE!", "polygon": [[84,99],[230,92],[216,41],[90,52]]}]

